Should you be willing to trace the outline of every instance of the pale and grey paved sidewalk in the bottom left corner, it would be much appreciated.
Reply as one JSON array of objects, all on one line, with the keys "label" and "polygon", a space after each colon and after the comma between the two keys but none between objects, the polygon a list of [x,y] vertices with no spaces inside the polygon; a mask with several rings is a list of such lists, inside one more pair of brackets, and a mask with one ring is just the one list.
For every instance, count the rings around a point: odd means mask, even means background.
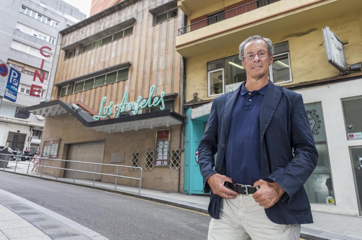
[{"label": "pale and grey paved sidewalk in the bottom left corner", "polygon": [[0,240],[107,240],[81,224],[0,189]]}]

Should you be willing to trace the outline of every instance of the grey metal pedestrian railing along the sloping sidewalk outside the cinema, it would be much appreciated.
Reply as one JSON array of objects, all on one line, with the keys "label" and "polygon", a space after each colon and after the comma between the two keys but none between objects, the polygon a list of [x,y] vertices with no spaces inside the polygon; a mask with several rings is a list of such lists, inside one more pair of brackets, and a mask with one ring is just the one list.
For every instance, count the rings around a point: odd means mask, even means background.
[{"label": "grey metal pedestrian railing along the sloping sidewalk outside the cinema", "polygon": [[[26,162],[23,163],[22,161],[1,160],[1,156],[2,156],[2,155],[9,156],[9,158],[10,158],[11,156],[14,156],[13,154],[0,154],[0,162],[16,162],[16,163],[15,163],[14,172],[16,172],[16,168],[17,168],[17,165],[18,165],[18,164],[28,165],[28,169],[27,169],[27,171],[26,171],[26,174],[29,174],[29,167],[30,167],[30,162],[31,162],[31,161],[29,161],[28,163],[26,163]],[[29,158],[34,158],[34,157],[29,157]],[[77,172],[90,173],[90,174],[94,174],[94,177],[93,177],[93,186],[95,186],[94,184],[95,184],[95,182],[96,182],[96,174],[99,174],[99,175],[101,175],[101,176],[102,176],[102,175],[105,175],[105,176],[114,176],[114,177],[115,177],[114,189],[116,189],[116,190],[117,190],[117,178],[135,179],[135,180],[139,180],[138,194],[141,194],[141,183],[142,183],[142,172],[143,172],[142,167],[113,165],[113,164],[106,164],[106,163],[72,161],[72,160],[64,160],[64,159],[56,159],[56,158],[44,158],[44,157],[41,157],[40,159],[43,160],[43,161],[41,161],[41,165],[38,165],[38,166],[37,166],[37,167],[41,167],[40,176],[43,175],[44,167],[47,167],[47,168],[50,168],[50,169],[56,169],[56,176],[55,176],[56,179],[58,179],[59,170],[70,170],[70,171],[74,171],[73,182],[75,182]],[[59,161],[58,167],[44,166],[46,160]],[[75,163],[76,163],[75,169],[69,169],[69,168],[60,167],[60,163],[61,163],[61,162],[75,162]],[[95,167],[94,167],[94,172],[77,170],[78,163],[88,163],[88,164],[93,164],[93,165],[95,165]],[[2,167],[3,170],[5,170],[5,165],[6,165],[6,163],[4,163],[4,166]],[[116,167],[116,174],[97,173],[97,166],[113,166],[113,167]],[[119,167],[132,168],[132,169],[140,169],[140,170],[141,170],[140,177],[139,177],[139,178],[134,178],[134,177],[130,177],[130,176],[118,175]]]}]

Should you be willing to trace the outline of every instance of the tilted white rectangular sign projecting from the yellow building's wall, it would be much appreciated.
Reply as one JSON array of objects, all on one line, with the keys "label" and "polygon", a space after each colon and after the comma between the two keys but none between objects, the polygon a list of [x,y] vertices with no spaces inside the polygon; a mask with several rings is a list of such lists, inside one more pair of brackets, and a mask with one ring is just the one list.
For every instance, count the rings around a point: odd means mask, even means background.
[{"label": "tilted white rectangular sign projecting from the yellow building's wall", "polygon": [[327,26],[323,28],[322,31],[328,62],[342,73],[347,73],[348,69],[344,57],[342,40],[339,39],[337,35],[334,34],[334,32],[332,32]]}]

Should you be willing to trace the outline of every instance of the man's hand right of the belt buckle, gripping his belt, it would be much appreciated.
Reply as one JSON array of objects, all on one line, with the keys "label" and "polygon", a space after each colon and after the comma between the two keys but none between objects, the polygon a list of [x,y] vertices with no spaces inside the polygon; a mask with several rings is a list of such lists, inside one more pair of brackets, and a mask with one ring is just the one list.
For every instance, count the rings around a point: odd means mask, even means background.
[{"label": "man's hand right of the belt buckle, gripping his belt", "polygon": [[254,183],[254,187],[257,186],[260,188],[253,194],[253,198],[260,206],[264,206],[264,208],[273,206],[285,193],[284,189],[277,183],[269,183],[262,179]]}]

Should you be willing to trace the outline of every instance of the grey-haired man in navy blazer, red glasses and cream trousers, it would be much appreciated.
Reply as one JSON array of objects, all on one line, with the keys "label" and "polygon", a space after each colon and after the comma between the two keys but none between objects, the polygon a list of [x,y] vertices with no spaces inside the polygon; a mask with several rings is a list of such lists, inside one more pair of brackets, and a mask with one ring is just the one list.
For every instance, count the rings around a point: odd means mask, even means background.
[{"label": "grey-haired man in navy blazer, red glasses and cream trousers", "polygon": [[270,39],[251,36],[239,51],[247,80],[214,99],[198,148],[209,240],[298,240],[313,222],[303,184],[318,160],[303,99],[268,80]]}]

